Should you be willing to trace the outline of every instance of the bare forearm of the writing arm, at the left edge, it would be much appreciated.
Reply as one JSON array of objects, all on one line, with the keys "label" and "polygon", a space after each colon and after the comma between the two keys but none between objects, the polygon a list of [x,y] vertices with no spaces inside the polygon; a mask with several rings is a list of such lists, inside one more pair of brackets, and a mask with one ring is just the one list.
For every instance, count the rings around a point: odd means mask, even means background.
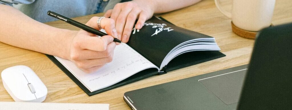
[{"label": "bare forearm of the writing arm, at the left edge", "polygon": [[[0,42],[67,58],[72,31],[37,22],[19,10],[0,5]],[[71,35],[70,35],[71,34]]]}]

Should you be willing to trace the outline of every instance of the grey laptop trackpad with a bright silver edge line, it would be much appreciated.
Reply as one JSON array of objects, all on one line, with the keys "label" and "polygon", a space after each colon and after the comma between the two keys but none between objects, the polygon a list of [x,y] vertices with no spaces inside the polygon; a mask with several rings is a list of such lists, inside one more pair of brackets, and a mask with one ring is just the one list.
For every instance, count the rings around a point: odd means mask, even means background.
[{"label": "grey laptop trackpad with a bright silver edge line", "polygon": [[247,69],[199,80],[226,105],[239,101],[241,87]]}]

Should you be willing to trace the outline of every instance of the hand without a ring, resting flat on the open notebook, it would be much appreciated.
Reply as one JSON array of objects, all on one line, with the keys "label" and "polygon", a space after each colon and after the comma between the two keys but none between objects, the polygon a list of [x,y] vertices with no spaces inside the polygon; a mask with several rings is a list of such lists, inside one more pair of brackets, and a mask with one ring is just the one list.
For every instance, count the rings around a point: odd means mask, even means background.
[{"label": "hand without a ring, resting flat on the open notebook", "polygon": [[148,1],[133,0],[124,3],[118,3],[113,9],[108,10],[104,17],[112,18],[116,22],[118,39],[127,43],[136,19],[136,29],[141,29],[145,21],[153,16],[153,6]]}]

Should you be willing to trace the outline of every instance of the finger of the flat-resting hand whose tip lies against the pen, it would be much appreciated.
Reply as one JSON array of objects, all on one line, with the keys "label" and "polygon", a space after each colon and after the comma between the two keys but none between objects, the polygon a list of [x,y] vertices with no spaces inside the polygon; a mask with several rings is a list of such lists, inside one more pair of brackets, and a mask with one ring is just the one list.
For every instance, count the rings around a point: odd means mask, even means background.
[{"label": "finger of the flat-resting hand whose tip lies against the pen", "polygon": [[[126,8],[126,9],[122,10],[119,17],[117,18],[116,29],[118,32],[118,36],[121,39],[123,39],[123,37],[124,37],[124,36],[122,36],[123,30],[124,30],[124,27],[126,24],[127,16],[131,12],[131,10],[132,10],[131,8]],[[127,36],[125,36],[125,37],[127,37]]]}]

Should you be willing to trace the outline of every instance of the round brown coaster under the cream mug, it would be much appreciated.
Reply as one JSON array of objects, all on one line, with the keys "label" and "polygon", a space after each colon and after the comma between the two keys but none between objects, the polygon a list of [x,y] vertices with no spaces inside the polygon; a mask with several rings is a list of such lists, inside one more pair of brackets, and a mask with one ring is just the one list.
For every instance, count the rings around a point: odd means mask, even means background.
[{"label": "round brown coaster under the cream mug", "polygon": [[246,39],[255,39],[256,34],[258,33],[258,32],[251,32],[251,31],[246,31],[246,30],[240,29],[240,28],[236,27],[232,21],[231,21],[231,27],[232,27],[232,31],[235,34],[237,34],[238,36],[241,36],[243,38],[246,38]]}]

